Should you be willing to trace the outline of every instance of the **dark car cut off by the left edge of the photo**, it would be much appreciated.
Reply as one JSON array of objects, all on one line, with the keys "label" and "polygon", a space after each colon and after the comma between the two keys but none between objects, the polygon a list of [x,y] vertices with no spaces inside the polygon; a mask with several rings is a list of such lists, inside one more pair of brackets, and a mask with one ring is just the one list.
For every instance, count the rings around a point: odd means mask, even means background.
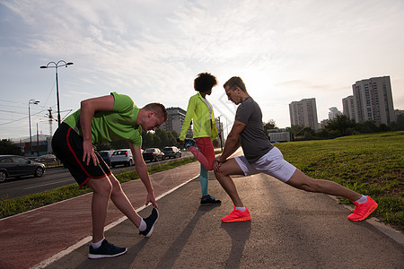
[{"label": "dark car cut off by the left edge of the photo", "polygon": [[18,155],[0,155],[0,182],[22,176],[42,177],[45,165]]}]

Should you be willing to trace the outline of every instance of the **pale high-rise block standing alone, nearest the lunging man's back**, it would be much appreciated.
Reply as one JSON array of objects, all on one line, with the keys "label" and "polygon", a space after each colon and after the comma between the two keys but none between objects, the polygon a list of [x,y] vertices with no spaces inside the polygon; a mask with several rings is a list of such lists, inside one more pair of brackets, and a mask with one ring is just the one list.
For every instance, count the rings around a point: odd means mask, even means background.
[{"label": "pale high-rise block standing alone, nearest the lunging man's back", "polygon": [[292,126],[308,126],[319,129],[316,99],[303,99],[289,104],[290,124]]}]

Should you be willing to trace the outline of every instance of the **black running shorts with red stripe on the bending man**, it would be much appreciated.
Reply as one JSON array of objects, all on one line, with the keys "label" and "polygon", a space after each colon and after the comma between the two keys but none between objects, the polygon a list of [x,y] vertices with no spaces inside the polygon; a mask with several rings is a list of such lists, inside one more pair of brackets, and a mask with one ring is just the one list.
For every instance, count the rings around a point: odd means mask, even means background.
[{"label": "black running shorts with red stripe on the bending man", "polygon": [[97,166],[92,161],[89,165],[83,162],[83,137],[66,123],[62,123],[53,135],[52,150],[80,186],[85,185],[90,178],[104,178],[111,174],[98,152],[95,152],[100,161]]}]

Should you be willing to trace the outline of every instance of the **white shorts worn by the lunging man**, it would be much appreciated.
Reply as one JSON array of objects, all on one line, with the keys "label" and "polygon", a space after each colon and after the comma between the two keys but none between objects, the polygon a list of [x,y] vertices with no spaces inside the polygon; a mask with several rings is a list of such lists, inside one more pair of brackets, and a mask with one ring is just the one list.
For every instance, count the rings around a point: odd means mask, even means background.
[{"label": "white shorts worn by the lunging man", "polygon": [[244,156],[234,157],[245,176],[264,173],[283,182],[289,180],[296,168],[285,161],[284,155],[277,147],[272,148],[267,154],[259,158],[258,161],[250,163]]}]

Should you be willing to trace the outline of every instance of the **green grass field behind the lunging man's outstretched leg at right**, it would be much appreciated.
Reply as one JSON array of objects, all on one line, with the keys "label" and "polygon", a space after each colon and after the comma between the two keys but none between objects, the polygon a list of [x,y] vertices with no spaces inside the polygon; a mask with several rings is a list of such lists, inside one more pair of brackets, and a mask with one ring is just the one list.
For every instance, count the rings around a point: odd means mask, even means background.
[{"label": "green grass field behind the lunging man's outstretched leg at right", "polygon": [[[370,195],[372,216],[404,230],[404,132],[277,143],[285,160],[312,178],[329,179]],[[341,198],[342,203],[350,203]]]}]

